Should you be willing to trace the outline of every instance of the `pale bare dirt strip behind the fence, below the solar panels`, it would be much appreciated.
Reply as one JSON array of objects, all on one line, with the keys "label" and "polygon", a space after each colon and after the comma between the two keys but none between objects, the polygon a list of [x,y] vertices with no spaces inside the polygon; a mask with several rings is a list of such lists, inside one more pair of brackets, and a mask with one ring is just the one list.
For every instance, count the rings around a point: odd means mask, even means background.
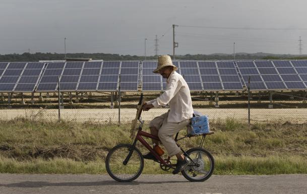
[{"label": "pale bare dirt strip behind the fence, below the solar panels", "polygon": [[[225,119],[233,117],[242,121],[248,121],[248,109],[235,108],[196,108],[195,110],[209,116],[210,119]],[[166,108],[151,109],[142,113],[143,120],[151,120],[166,112]],[[251,121],[289,121],[291,123],[307,122],[306,108],[287,108],[287,109],[251,109]],[[99,121],[99,122],[118,122],[118,109],[61,109],[60,117],[65,120],[75,121]],[[135,118],[136,109],[120,109],[120,121],[127,122]],[[1,109],[0,119],[12,119],[25,117],[28,119],[47,119],[57,120],[57,109]]]}]

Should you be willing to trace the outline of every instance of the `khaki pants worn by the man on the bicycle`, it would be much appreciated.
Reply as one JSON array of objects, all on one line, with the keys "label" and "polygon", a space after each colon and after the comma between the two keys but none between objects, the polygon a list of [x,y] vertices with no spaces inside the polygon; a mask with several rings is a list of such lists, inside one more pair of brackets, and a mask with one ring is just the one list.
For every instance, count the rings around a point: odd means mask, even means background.
[{"label": "khaki pants worn by the man on the bicycle", "polygon": [[180,152],[180,148],[176,145],[173,138],[174,134],[187,126],[191,122],[191,119],[182,120],[181,122],[167,122],[168,112],[152,119],[149,123],[149,127],[154,126],[157,128],[159,131],[159,139],[166,148],[168,155],[171,157]]}]

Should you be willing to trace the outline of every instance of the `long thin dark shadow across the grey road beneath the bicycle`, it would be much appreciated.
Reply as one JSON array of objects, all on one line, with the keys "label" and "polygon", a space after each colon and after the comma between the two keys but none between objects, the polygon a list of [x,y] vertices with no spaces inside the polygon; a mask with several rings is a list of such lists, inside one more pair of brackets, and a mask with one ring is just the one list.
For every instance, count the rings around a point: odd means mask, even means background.
[{"label": "long thin dark shadow across the grey road beneath the bicycle", "polygon": [[105,180],[96,182],[45,182],[45,181],[24,181],[11,184],[0,184],[6,187],[43,187],[43,186],[104,186],[104,185],[139,185],[139,184],[163,184],[163,183],[178,183],[187,181],[132,181],[132,182],[117,182],[115,180]]}]

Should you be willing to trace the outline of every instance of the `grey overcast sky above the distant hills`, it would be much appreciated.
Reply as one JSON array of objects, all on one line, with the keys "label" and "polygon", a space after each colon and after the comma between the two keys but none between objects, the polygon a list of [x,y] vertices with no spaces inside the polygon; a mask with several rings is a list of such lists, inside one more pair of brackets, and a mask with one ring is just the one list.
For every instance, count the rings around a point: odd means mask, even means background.
[{"label": "grey overcast sky above the distant hills", "polygon": [[307,54],[306,0],[0,0],[0,53]]}]

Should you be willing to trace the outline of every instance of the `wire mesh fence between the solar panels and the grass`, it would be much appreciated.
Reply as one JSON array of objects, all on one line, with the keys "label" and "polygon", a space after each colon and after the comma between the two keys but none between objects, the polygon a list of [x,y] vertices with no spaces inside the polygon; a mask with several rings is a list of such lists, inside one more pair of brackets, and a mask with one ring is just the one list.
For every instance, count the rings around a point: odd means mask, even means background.
[{"label": "wire mesh fence between the solar panels and the grass", "polygon": [[[127,124],[135,118],[140,92],[3,94],[0,119],[69,120]],[[120,95],[119,95],[120,94]],[[147,100],[159,92],[146,92]],[[192,92],[195,110],[210,120],[229,118],[242,122],[307,122],[306,92]],[[9,100],[10,99],[10,100]],[[145,121],[165,113],[169,107],[142,114]]]}]

